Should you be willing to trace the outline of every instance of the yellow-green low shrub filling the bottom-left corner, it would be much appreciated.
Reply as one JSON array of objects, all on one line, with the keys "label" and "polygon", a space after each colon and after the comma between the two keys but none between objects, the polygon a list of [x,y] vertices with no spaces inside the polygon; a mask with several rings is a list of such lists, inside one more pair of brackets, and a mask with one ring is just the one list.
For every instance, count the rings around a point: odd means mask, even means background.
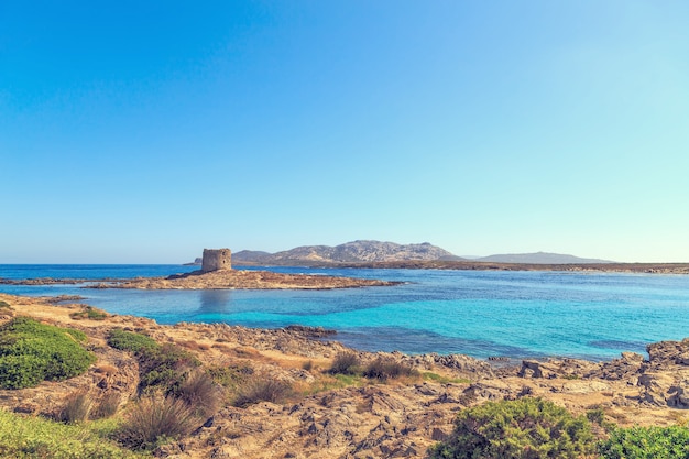
[{"label": "yellow-green low shrub filling the bottom-left corner", "polygon": [[[92,428],[91,428],[92,427]],[[0,409],[0,457],[134,459],[140,456],[99,435],[97,425],[74,426]]]}]

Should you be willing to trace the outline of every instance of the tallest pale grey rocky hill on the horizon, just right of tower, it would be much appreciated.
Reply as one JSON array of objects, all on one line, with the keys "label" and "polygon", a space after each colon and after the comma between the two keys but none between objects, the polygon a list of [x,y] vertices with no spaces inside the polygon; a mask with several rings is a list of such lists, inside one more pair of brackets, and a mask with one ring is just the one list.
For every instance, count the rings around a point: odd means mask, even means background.
[{"label": "tallest pale grey rocky hill on the horizon, just right of tower", "polygon": [[462,260],[428,242],[397,244],[380,241],[353,241],[340,245],[304,245],[277,253],[242,250],[232,253],[237,264],[330,264],[376,263],[409,260]]}]

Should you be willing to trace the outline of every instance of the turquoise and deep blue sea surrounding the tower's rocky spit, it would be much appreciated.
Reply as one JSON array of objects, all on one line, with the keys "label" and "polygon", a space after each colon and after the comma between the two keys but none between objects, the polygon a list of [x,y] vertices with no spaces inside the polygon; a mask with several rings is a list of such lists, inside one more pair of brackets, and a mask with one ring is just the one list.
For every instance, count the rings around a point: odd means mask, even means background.
[{"label": "turquoise and deep blue sea surrounding the tower's rocky spit", "polygon": [[[0,265],[0,277],[131,278],[197,270],[182,265]],[[244,267],[241,267],[244,269]],[[245,267],[402,282],[332,291],[135,291],[78,285],[0,285],[25,296],[80,295],[83,303],[158,324],[288,325],[337,330],[352,348],[510,359],[604,361],[648,343],[689,337],[689,276],[557,271]]]}]

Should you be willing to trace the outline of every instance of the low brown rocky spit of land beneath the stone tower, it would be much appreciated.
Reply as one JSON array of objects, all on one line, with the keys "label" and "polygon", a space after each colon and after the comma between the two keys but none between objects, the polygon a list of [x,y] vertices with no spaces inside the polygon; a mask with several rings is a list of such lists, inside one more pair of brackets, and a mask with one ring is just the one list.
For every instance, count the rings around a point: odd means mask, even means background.
[{"label": "low brown rocky spit of land beneath the stone tower", "polygon": [[398,285],[398,282],[310,274],[281,274],[270,271],[219,270],[204,273],[194,271],[166,277],[135,278],[29,278],[6,280],[9,285],[84,284],[81,288],[136,289],[332,289]]}]

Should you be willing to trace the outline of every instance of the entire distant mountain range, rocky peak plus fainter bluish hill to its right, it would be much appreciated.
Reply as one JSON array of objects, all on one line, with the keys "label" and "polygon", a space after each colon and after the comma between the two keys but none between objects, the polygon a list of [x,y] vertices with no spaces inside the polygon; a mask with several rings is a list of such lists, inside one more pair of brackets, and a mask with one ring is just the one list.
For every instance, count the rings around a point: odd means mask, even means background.
[{"label": "entire distant mountain range, rocky peak plus fainter bluish hill to its right", "polygon": [[403,261],[471,261],[486,263],[526,264],[589,264],[612,263],[606,260],[582,259],[559,253],[514,253],[497,254],[471,260],[453,255],[445,249],[428,242],[398,244],[381,241],[353,241],[340,245],[303,245],[276,253],[242,250],[232,253],[232,263],[255,265],[310,265],[338,263],[385,263]]}]

